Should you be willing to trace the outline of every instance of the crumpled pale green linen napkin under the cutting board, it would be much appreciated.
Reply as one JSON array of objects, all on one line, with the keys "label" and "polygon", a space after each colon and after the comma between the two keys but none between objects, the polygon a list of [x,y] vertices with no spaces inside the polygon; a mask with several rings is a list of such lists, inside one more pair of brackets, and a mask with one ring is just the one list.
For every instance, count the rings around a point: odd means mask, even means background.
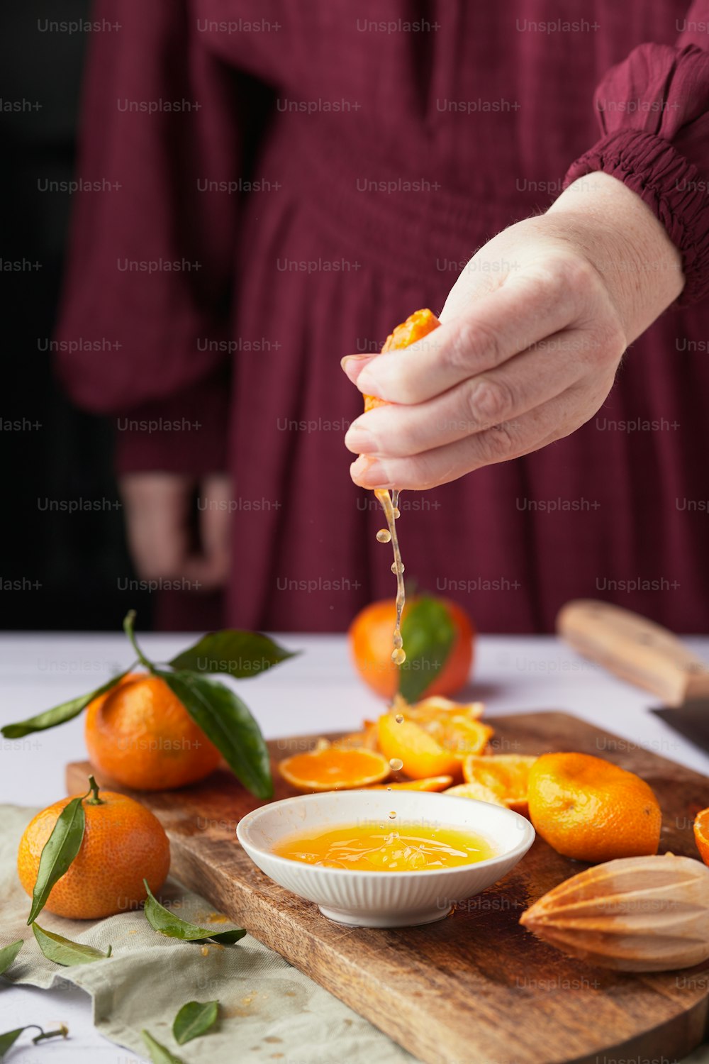
[{"label": "crumpled pale green linen napkin under the cutting board", "polygon": [[[94,1024],[112,1042],[148,1059],[147,1028],[185,1064],[404,1064],[415,1058],[287,961],[247,935],[234,946],[178,942],[157,934],[141,911],[103,920],[68,920],[46,910],[38,922],[113,957],[65,968],[48,961],[27,926],[30,899],[16,871],[20,836],[36,810],[0,805],[0,946],[24,940],[7,971],[16,983],[72,984],[91,996]],[[217,914],[203,898],[168,880],[161,891],[183,919],[208,927]],[[223,931],[214,922],[215,931]],[[2,977],[0,977],[2,983]],[[184,1046],[172,1020],[186,1001],[221,1003],[219,1023]],[[31,1032],[34,1033],[34,1032]],[[71,1032],[69,1033],[71,1037]],[[51,1043],[47,1043],[51,1046]],[[19,1050],[19,1044],[18,1044]],[[18,1051],[15,1050],[15,1051]],[[11,1050],[7,1064],[12,1064]]]}]

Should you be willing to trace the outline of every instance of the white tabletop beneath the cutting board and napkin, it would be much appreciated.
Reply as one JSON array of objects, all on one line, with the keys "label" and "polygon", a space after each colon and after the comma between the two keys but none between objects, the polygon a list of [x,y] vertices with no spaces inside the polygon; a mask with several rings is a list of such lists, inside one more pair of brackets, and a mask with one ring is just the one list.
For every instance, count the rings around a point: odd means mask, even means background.
[{"label": "white tabletop beneath the cutting board and napkin", "polygon": [[[195,636],[196,638],[197,636]],[[357,679],[344,636],[277,636],[303,654],[255,679],[239,681],[241,696],[267,738],[301,732],[354,730],[382,710]],[[189,635],[144,635],[149,658],[167,661],[192,642]],[[709,660],[709,639],[688,645]],[[133,661],[121,635],[0,635],[0,724],[22,720],[98,687]],[[227,680],[227,682],[231,682]],[[709,755],[648,712],[657,700],[614,680],[553,637],[485,636],[478,639],[474,695],[489,714],[565,710],[629,743],[644,746],[709,776]],[[64,765],[85,755],[81,717],[23,739],[0,739],[0,801],[47,805],[65,793]],[[3,988],[0,1032],[23,1024],[68,1025],[68,1042],[46,1043],[48,1064],[138,1064],[141,1058],[113,1045],[91,1027],[81,991]],[[16,1064],[37,1060],[34,1048],[13,1050]],[[51,1060],[50,1060],[51,1058]]]}]

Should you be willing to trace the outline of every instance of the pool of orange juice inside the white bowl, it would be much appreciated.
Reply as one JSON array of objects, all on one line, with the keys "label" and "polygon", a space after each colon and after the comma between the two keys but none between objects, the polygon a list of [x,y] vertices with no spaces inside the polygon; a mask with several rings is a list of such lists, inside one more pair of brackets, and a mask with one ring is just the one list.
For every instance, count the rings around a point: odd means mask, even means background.
[{"label": "pool of orange juice inside the white bowl", "polygon": [[299,831],[273,852],[291,861],[357,871],[454,868],[494,857],[490,843],[458,828],[429,824],[351,824],[330,831]]}]

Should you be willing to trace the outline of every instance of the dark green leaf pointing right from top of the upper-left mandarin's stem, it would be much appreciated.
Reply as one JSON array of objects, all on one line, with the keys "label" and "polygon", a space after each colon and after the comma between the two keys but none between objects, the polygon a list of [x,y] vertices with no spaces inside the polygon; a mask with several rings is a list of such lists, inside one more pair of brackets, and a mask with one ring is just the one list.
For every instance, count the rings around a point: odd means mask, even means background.
[{"label": "dark green leaf pointing right from top of the upper-left mandarin's stem", "polygon": [[230,628],[203,636],[169,664],[173,668],[186,668],[193,672],[227,672],[243,680],[296,656],[292,651],[269,639],[268,635]]}]

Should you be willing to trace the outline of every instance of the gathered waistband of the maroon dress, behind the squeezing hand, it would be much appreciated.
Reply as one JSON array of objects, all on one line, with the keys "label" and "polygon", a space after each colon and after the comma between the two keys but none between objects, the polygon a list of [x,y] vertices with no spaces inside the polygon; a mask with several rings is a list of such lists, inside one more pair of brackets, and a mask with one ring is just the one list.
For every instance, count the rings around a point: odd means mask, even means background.
[{"label": "gathered waistband of the maroon dress, behind the squeezing hand", "polygon": [[474,166],[453,188],[435,157],[402,162],[352,127],[345,135],[341,121],[299,117],[275,123],[260,171],[343,247],[399,273],[462,268],[486,240],[544,210],[560,190],[518,190],[513,180],[495,181]]}]

